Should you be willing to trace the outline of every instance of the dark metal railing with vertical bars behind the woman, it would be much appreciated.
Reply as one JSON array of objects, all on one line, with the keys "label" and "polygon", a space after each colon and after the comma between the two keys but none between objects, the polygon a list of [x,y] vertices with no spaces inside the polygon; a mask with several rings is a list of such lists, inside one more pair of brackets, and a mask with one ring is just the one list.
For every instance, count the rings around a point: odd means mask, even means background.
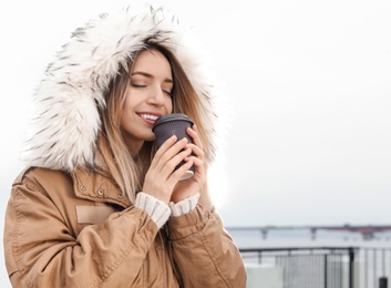
[{"label": "dark metal railing with vertical bars behind the woman", "polygon": [[282,267],[284,288],[388,288],[391,248],[243,248],[245,263]]}]

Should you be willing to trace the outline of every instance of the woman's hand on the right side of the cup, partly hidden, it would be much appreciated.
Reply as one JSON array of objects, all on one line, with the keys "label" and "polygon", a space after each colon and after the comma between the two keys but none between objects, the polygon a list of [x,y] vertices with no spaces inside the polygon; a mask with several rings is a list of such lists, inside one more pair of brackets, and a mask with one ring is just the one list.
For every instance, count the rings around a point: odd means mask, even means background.
[{"label": "woman's hand on the right side of the cup, partly hidden", "polygon": [[[189,148],[193,155],[185,158],[185,165],[187,166],[187,164],[192,163],[192,165],[195,166],[195,173],[193,177],[181,181],[176,184],[171,196],[171,200],[174,203],[200,193],[202,187],[206,183],[205,153],[203,151],[203,144],[197,134],[197,126],[193,125],[193,128],[189,127],[186,132],[193,138],[193,143],[186,144],[185,148]],[[187,166],[187,168],[189,168],[192,165]]]}]

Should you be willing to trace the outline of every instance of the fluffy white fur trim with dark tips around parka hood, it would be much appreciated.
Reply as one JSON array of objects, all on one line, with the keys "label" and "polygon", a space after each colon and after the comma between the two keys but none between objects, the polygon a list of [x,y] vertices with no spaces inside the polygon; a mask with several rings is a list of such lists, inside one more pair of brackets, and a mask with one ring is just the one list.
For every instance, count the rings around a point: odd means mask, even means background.
[{"label": "fluffy white fur trim with dark tips around parka hood", "polygon": [[212,85],[192,52],[186,31],[163,9],[127,8],[101,14],[76,29],[48,66],[34,99],[34,119],[23,154],[28,165],[69,172],[93,166],[101,127],[97,105],[105,105],[109,83],[146,40],[163,41],[175,53],[202,99],[206,111],[203,125],[214,131]]}]

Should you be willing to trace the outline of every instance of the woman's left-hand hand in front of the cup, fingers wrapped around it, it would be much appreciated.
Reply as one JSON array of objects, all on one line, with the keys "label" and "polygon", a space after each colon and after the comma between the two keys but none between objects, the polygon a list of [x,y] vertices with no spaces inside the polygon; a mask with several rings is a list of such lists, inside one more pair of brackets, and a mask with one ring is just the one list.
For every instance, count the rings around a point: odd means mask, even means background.
[{"label": "woman's left-hand hand in front of the cup, fingers wrapped around it", "polygon": [[192,147],[188,147],[187,144],[187,138],[176,142],[176,136],[172,136],[163,143],[145,174],[144,193],[168,204],[175,185],[193,165],[192,160],[187,160],[184,165],[174,172],[175,167],[192,153]]}]

